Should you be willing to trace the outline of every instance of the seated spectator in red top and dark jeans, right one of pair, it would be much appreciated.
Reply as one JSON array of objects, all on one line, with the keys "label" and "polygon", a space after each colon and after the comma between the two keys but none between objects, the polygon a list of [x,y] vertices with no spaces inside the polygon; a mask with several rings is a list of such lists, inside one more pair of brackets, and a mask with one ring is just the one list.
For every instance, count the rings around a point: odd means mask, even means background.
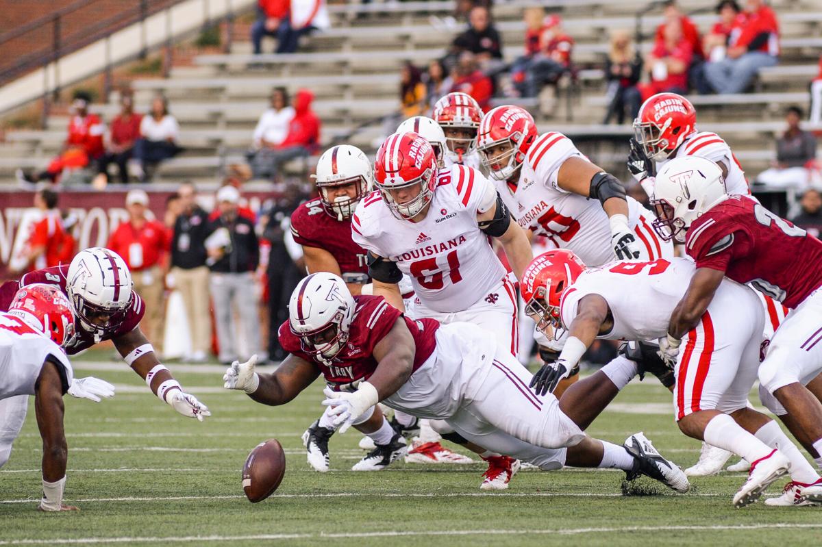
[{"label": "seated spectator in red top and dark jeans, right one of pair", "polygon": [[529,62],[511,75],[522,97],[536,97],[544,85],[555,84],[560,76],[570,70],[574,39],[562,30],[559,16],[552,15],[545,19],[538,47],[538,52],[530,57]]}]

